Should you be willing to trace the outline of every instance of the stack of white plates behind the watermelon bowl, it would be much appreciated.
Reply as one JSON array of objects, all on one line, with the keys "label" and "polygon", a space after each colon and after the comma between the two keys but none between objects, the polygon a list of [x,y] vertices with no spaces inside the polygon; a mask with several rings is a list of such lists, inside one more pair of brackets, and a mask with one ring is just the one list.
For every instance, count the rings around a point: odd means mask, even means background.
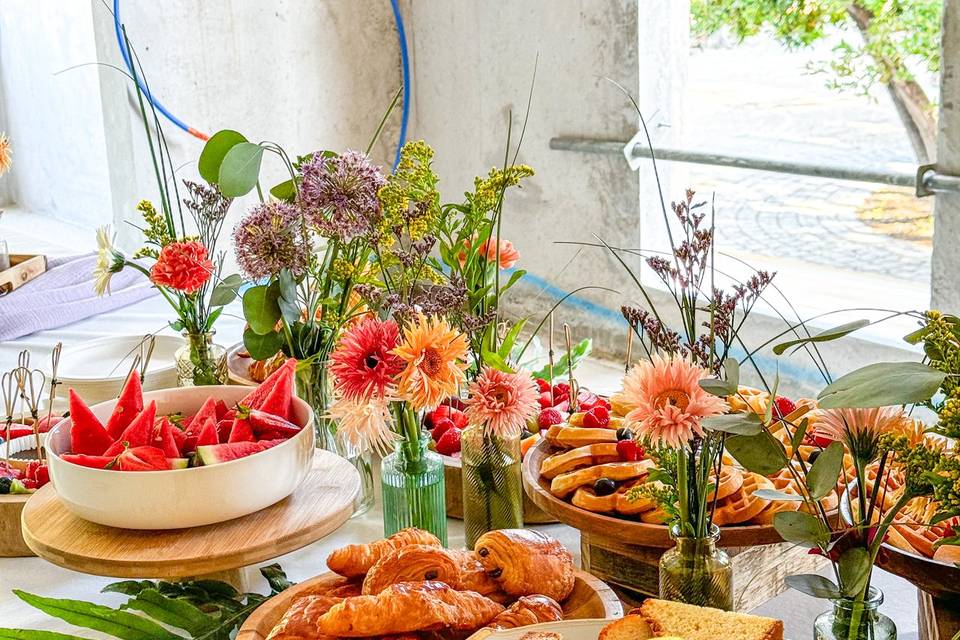
[{"label": "stack of white plates behind the watermelon bowl", "polygon": [[[62,383],[58,392],[61,402],[66,399],[69,388],[80,394],[88,405],[116,398],[133,359],[141,352],[141,342],[143,336],[118,336],[64,347],[58,372]],[[143,382],[144,391],[177,386],[174,354],[182,346],[181,338],[157,336]]]}]

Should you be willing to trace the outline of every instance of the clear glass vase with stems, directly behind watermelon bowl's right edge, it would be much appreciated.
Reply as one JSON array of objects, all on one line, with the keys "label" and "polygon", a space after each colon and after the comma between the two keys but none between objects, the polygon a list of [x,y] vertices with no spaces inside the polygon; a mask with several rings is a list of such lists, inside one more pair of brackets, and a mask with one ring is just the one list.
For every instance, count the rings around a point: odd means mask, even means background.
[{"label": "clear glass vase with stems, directly behind watermelon bowl's right edge", "polygon": [[313,425],[317,432],[317,448],[332,451],[346,458],[360,474],[360,493],[353,504],[353,516],[361,516],[373,506],[373,464],[369,451],[353,447],[337,437],[336,423],[330,418],[333,402],[333,381],[325,362],[313,361],[297,367],[297,396],[313,409]]}]

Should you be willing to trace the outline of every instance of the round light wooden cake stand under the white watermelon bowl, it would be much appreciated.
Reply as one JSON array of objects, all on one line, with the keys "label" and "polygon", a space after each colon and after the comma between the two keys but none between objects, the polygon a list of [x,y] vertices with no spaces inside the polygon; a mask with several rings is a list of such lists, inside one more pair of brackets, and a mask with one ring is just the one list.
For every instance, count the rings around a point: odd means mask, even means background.
[{"label": "round light wooden cake stand under the white watermelon bowl", "polygon": [[244,567],[332,533],[350,518],[359,491],[356,468],[318,450],[313,469],[292,495],[227,522],[170,531],[116,529],[75,516],[50,484],[27,501],[21,524],[27,545],[66,569],[115,578],[203,577],[247,591]]}]

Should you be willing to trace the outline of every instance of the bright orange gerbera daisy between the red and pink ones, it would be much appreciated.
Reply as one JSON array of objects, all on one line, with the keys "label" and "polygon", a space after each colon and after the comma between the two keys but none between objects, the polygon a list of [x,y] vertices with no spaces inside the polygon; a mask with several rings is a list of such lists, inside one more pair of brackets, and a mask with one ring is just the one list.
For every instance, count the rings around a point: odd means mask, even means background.
[{"label": "bright orange gerbera daisy between the red and pink ones", "polygon": [[398,395],[418,411],[456,395],[466,377],[467,338],[442,318],[418,316],[393,353],[406,363]]}]

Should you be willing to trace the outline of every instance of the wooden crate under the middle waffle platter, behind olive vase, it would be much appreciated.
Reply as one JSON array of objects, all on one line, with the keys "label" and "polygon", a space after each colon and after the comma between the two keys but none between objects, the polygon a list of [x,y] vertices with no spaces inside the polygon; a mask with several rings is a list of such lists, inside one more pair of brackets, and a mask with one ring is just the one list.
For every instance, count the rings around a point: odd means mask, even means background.
[{"label": "wooden crate under the middle waffle platter, behind olive vase", "polygon": [[[608,583],[630,606],[657,596],[658,565],[664,551],[580,532],[583,569]],[[729,547],[724,551],[733,564],[733,603],[737,611],[750,611],[785,591],[787,576],[814,573],[827,563],[825,558],[786,542]]]}]

